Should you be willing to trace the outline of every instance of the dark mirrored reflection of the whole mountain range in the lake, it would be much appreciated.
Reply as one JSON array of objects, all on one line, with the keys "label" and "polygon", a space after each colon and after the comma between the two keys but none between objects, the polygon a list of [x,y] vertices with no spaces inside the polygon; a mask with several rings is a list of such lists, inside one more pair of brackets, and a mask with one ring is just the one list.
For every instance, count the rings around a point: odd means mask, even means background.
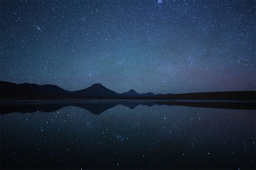
[{"label": "dark mirrored reflection of the whole mountain range in the lake", "polygon": [[1,114],[12,112],[20,113],[33,113],[41,112],[54,112],[62,107],[75,106],[84,108],[92,114],[99,115],[105,110],[115,107],[116,105],[123,105],[134,109],[139,105],[152,107],[154,105],[167,105],[167,106],[188,106],[188,107],[209,107],[209,108],[226,108],[226,109],[244,109],[255,110],[255,102],[94,102],[94,103],[65,103],[65,104],[1,104]]}]

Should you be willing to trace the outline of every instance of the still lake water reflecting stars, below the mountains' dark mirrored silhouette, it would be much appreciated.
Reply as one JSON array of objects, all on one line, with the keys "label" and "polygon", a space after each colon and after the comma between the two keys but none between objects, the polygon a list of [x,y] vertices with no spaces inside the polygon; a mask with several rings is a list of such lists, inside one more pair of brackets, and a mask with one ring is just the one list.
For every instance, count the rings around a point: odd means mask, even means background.
[{"label": "still lake water reflecting stars, below the mountains' dark mirrored silhouette", "polygon": [[116,105],[97,114],[2,114],[0,168],[255,169],[255,110]]}]

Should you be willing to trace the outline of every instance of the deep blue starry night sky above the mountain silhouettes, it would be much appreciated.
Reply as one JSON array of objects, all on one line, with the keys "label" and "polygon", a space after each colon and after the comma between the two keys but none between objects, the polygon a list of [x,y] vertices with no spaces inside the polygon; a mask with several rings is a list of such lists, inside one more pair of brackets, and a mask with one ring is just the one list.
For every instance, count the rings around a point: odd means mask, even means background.
[{"label": "deep blue starry night sky above the mountain silhouettes", "polygon": [[1,1],[0,79],[69,91],[255,90],[255,1]]}]

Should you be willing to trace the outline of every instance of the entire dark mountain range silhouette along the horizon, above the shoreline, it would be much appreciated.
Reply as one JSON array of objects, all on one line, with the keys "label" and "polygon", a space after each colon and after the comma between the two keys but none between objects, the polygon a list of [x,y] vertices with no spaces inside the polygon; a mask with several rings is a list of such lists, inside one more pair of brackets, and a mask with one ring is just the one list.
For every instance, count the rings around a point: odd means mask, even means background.
[{"label": "entire dark mountain range silhouette along the horizon, above the shoreline", "polygon": [[92,98],[92,99],[213,99],[213,100],[255,100],[255,91],[200,92],[182,94],[139,94],[133,89],[122,94],[116,93],[101,84],[70,92],[57,85],[15,84],[0,81],[0,97],[3,99],[49,99],[49,98]]}]

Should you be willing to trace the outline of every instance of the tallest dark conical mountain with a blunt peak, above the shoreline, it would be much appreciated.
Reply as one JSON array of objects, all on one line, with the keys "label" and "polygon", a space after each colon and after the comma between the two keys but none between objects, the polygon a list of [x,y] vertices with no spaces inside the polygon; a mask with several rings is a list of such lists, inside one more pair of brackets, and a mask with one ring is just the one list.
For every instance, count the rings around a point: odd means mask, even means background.
[{"label": "tallest dark conical mountain with a blunt peak, above the shoreline", "polygon": [[116,93],[104,87],[100,83],[94,84],[86,89],[72,92],[76,97],[83,98],[120,98],[122,94]]}]

